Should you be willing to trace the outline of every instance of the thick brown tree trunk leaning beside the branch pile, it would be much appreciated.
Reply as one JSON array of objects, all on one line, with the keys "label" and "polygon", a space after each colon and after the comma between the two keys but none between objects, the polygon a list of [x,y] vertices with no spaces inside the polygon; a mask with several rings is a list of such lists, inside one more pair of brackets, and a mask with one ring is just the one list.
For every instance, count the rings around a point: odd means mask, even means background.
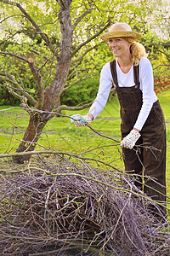
[{"label": "thick brown tree trunk leaning beside the branch pile", "polygon": [[[50,113],[56,108],[59,102],[59,96],[61,95],[65,82],[68,77],[69,69],[71,67],[71,45],[72,45],[72,29],[71,29],[71,0],[59,0],[59,23],[61,31],[60,52],[58,65],[54,75],[52,83],[43,92],[43,96],[39,97],[37,107],[40,111]],[[37,81],[37,90],[42,93],[42,81],[37,67],[34,65],[34,61],[29,61],[31,71]],[[39,88],[40,87],[40,88]],[[38,97],[38,96],[37,96]],[[42,103],[43,98],[43,103]],[[51,115],[52,117],[52,115]],[[36,143],[41,136],[43,127],[47,124],[49,116],[47,113],[32,114],[29,125],[26,129],[26,133],[20,143],[16,152],[33,151],[36,148]],[[31,156],[16,156],[14,162],[21,164],[25,160],[29,160]]]}]

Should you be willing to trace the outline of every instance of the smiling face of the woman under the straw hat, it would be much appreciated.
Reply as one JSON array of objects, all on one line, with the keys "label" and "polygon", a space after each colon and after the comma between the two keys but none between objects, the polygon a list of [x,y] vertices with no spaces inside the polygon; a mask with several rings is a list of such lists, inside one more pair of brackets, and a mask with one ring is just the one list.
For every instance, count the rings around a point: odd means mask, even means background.
[{"label": "smiling face of the woman under the straw hat", "polygon": [[109,40],[109,48],[116,58],[124,58],[130,56],[130,42],[126,38],[111,38]]}]

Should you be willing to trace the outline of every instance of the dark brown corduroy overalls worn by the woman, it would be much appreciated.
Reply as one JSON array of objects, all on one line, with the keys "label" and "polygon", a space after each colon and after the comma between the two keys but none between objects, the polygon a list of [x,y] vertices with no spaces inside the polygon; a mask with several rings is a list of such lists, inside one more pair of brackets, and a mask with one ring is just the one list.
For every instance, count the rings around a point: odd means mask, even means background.
[{"label": "dark brown corduroy overalls worn by the woman", "polygon": [[[126,137],[133,129],[143,102],[142,91],[139,89],[139,66],[133,66],[133,73],[135,85],[119,87],[116,61],[111,61],[111,74],[121,105],[122,138]],[[144,144],[144,146],[140,147],[138,154],[133,149],[122,149],[125,171],[133,171],[134,174],[141,175],[139,182],[135,182],[141,189],[144,168],[144,176],[147,176],[144,177],[144,192],[155,201],[166,201],[166,125],[159,101],[153,104],[140,134],[141,137],[139,137],[136,144]],[[151,148],[153,149],[151,150]],[[150,177],[155,179],[156,182],[151,180]],[[163,208],[163,211],[166,212],[166,209]]]}]

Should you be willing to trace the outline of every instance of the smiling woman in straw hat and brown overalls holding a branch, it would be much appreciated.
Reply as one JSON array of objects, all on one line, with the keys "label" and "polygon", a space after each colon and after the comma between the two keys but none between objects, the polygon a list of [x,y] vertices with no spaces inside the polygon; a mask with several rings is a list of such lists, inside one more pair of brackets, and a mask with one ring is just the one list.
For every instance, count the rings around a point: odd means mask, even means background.
[{"label": "smiling woman in straw hat and brown overalls holding a branch", "polygon": [[[126,23],[113,24],[109,32],[102,35],[101,38],[109,42],[116,60],[106,63],[102,68],[99,92],[88,115],[74,115],[73,118],[76,125],[90,124],[105,107],[111,85],[114,84],[121,105],[120,145],[125,171],[136,175],[135,184],[141,189],[144,170],[144,192],[155,201],[165,202],[165,119],[154,92],[150,61],[144,46],[135,42],[140,37],[139,32],[133,32]],[[161,210],[166,214],[164,207]]]}]

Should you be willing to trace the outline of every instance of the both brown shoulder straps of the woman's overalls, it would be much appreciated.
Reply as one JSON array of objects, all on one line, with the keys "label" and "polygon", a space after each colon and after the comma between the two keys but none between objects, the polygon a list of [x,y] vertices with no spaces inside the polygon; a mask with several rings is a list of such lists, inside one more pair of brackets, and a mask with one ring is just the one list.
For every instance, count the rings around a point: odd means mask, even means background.
[{"label": "both brown shoulder straps of the woman's overalls", "polygon": [[[117,82],[117,74],[116,74],[116,60],[113,60],[110,62],[111,65],[111,75],[113,78],[113,82],[116,85],[116,87],[118,87],[118,82]],[[134,73],[134,84],[135,84],[135,88],[139,88],[140,86],[140,82],[139,82],[139,65],[138,66],[134,66],[133,65],[133,73]]]}]

